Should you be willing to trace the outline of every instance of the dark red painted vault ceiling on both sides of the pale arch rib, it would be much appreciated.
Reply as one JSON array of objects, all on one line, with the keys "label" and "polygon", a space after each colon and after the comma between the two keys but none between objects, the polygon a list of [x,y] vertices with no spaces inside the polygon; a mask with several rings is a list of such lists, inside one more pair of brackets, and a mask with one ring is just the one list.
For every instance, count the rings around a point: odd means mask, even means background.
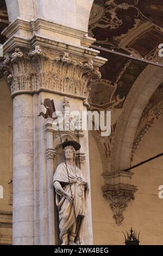
[{"label": "dark red painted vault ceiling on both sides of the pale arch rib", "polygon": [[[95,44],[121,53],[159,62],[158,46],[163,43],[163,1],[162,0],[95,0],[92,5],[89,36]],[[90,108],[111,110],[111,135],[93,136],[98,142],[103,161],[103,172],[111,169],[111,149],[118,118],[131,87],[147,67],[147,63],[117,56],[101,50],[108,59],[100,69],[102,79],[90,84]],[[137,145],[154,121],[163,114],[162,83],[143,111],[133,144],[131,160]]]}]

